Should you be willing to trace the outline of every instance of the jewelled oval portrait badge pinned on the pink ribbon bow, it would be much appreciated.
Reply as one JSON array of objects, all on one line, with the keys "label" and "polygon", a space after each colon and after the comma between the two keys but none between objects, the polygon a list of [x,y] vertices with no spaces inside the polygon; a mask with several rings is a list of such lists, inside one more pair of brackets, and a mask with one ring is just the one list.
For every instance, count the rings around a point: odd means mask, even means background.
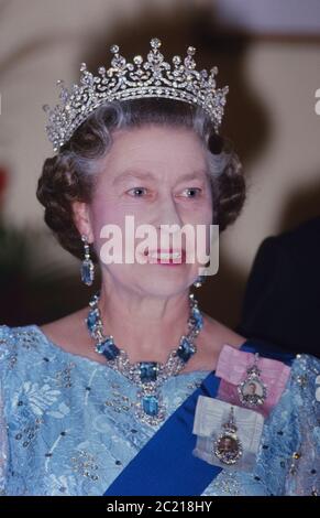
[{"label": "jewelled oval portrait badge pinned on the pink ribbon bow", "polygon": [[262,407],[267,397],[267,388],[261,379],[261,369],[257,366],[258,353],[254,355],[254,364],[246,369],[246,378],[238,386],[238,395],[245,407]]}]

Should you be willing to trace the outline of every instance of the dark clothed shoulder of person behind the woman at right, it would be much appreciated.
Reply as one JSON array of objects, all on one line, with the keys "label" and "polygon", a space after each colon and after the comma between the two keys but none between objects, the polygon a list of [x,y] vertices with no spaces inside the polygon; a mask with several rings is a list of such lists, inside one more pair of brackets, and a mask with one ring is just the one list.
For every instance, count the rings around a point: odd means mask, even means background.
[{"label": "dark clothed shoulder of person behind the woman at right", "polygon": [[236,331],[320,356],[320,218],[265,239],[249,277]]}]

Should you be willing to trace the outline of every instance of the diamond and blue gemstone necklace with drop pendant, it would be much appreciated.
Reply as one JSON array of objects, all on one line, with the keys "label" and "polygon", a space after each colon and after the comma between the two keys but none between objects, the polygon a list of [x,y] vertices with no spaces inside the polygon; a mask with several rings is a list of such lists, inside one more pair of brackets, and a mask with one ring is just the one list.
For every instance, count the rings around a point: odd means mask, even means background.
[{"label": "diamond and blue gemstone necklace with drop pendant", "polygon": [[137,386],[137,400],[134,404],[135,416],[143,422],[156,425],[166,417],[166,407],[161,393],[162,385],[169,377],[177,376],[197,352],[195,338],[203,326],[198,301],[194,293],[189,293],[188,333],[181,335],[178,347],[170,352],[164,364],[157,361],[132,364],[125,350],[114,344],[113,336],[103,334],[103,324],[98,306],[100,292],[92,296],[89,302],[89,314],[86,319],[88,331],[96,341],[96,352],[106,357],[111,368]]}]

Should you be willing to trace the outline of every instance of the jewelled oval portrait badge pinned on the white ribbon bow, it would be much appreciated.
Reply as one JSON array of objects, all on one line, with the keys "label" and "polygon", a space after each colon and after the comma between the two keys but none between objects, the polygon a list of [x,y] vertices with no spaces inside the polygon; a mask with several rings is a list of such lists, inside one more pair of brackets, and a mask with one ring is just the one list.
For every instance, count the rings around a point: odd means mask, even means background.
[{"label": "jewelled oval portrait badge pinned on the white ribbon bow", "polygon": [[213,455],[222,464],[235,464],[242,456],[242,443],[236,435],[238,427],[234,420],[234,410],[231,407],[229,420],[222,425],[223,431],[213,442]]}]

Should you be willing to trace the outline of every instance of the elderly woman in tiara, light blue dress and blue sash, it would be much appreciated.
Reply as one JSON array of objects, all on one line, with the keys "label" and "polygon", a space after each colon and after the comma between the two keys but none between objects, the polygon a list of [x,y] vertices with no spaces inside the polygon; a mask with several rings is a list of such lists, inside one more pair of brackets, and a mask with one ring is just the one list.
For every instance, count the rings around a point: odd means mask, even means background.
[{"label": "elderly woman in tiara, light blue dress and blue sash", "polygon": [[106,226],[122,236],[129,215],[157,238],[167,225],[222,231],[245,197],[218,134],[217,69],[198,73],[192,47],[172,69],[161,42],[151,46],[129,64],[113,45],[99,78],[84,64],[81,86],[63,87],[49,111],[57,153],[37,197],[82,281],[96,263],[101,287],[58,321],[0,327],[2,494],[317,494],[319,361],[201,313],[189,290],[205,276],[187,238],[136,239],[135,260],[108,260]]}]

